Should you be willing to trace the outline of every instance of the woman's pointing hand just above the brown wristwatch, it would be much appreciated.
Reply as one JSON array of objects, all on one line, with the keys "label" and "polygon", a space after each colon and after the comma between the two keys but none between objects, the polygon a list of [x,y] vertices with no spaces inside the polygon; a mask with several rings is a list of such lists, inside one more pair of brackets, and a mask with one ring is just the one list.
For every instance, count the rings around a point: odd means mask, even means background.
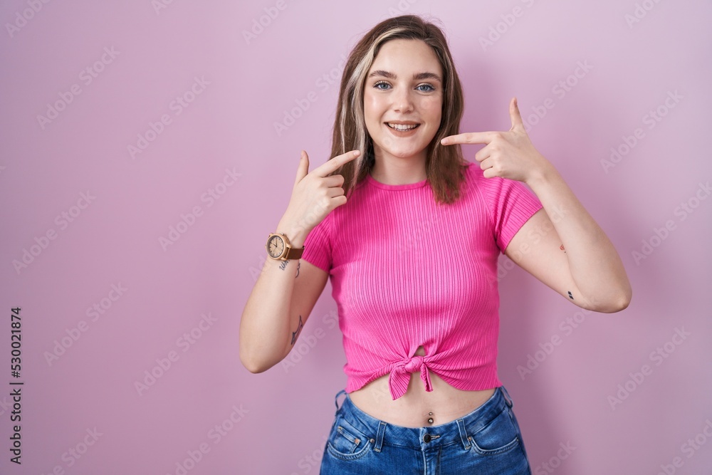
[{"label": "woman's pointing hand just above the brown wristwatch", "polygon": [[281,227],[286,227],[290,241],[303,241],[309,231],[319,224],[336,207],[346,203],[344,177],[331,175],[342,165],[360,155],[358,150],[351,150],[333,157],[328,162],[309,173],[309,156],[302,150],[297,169],[297,177],[292,189]]}]

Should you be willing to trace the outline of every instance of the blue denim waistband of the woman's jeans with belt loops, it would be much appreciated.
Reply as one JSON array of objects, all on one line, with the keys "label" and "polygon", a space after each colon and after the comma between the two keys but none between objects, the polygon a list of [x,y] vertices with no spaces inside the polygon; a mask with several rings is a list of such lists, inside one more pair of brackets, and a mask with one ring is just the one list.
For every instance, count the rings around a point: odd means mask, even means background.
[{"label": "blue denim waistband of the woman's jeans with belt loops", "polygon": [[[342,394],[346,397],[339,407],[338,397]],[[364,434],[369,434],[375,444],[375,451],[380,451],[384,443],[417,449],[459,443],[463,444],[464,449],[469,449],[469,438],[486,427],[506,407],[512,406],[509,393],[504,386],[500,386],[484,404],[459,419],[445,424],[414,428],[389,424],[366,414],[355,406],[344,390],[336,395],[336,414],[345,417]]]}]

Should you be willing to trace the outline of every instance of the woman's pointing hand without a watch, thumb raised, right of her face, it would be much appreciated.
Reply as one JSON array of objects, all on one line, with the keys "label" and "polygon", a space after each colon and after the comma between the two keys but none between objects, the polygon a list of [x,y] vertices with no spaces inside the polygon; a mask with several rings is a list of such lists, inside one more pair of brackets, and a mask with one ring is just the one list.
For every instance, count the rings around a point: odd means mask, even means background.
[{"label": "woman's pointing hand without a watch, thumb raised, right of her face", "polygon": [[486,144],[475,154],[486,178],[502,177],[528,183],[539,177],[552,165],[532,145],[524,130],[517,98],[509,103],[512,128],[508,132],[468,132],[450,135],[441,140],[442,145]]}]

